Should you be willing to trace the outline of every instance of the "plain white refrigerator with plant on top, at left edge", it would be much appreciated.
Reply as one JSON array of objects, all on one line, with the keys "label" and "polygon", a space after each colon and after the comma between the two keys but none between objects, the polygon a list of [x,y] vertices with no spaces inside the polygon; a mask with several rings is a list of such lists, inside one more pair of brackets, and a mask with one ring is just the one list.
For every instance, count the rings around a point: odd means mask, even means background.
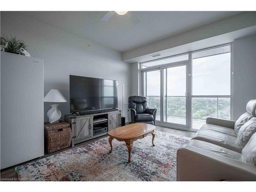
[{"label": "plain white refrigerator with plant on top, at left edge", "polygon": [[43,60],[1,52],[0,168],[43,155]]}]

